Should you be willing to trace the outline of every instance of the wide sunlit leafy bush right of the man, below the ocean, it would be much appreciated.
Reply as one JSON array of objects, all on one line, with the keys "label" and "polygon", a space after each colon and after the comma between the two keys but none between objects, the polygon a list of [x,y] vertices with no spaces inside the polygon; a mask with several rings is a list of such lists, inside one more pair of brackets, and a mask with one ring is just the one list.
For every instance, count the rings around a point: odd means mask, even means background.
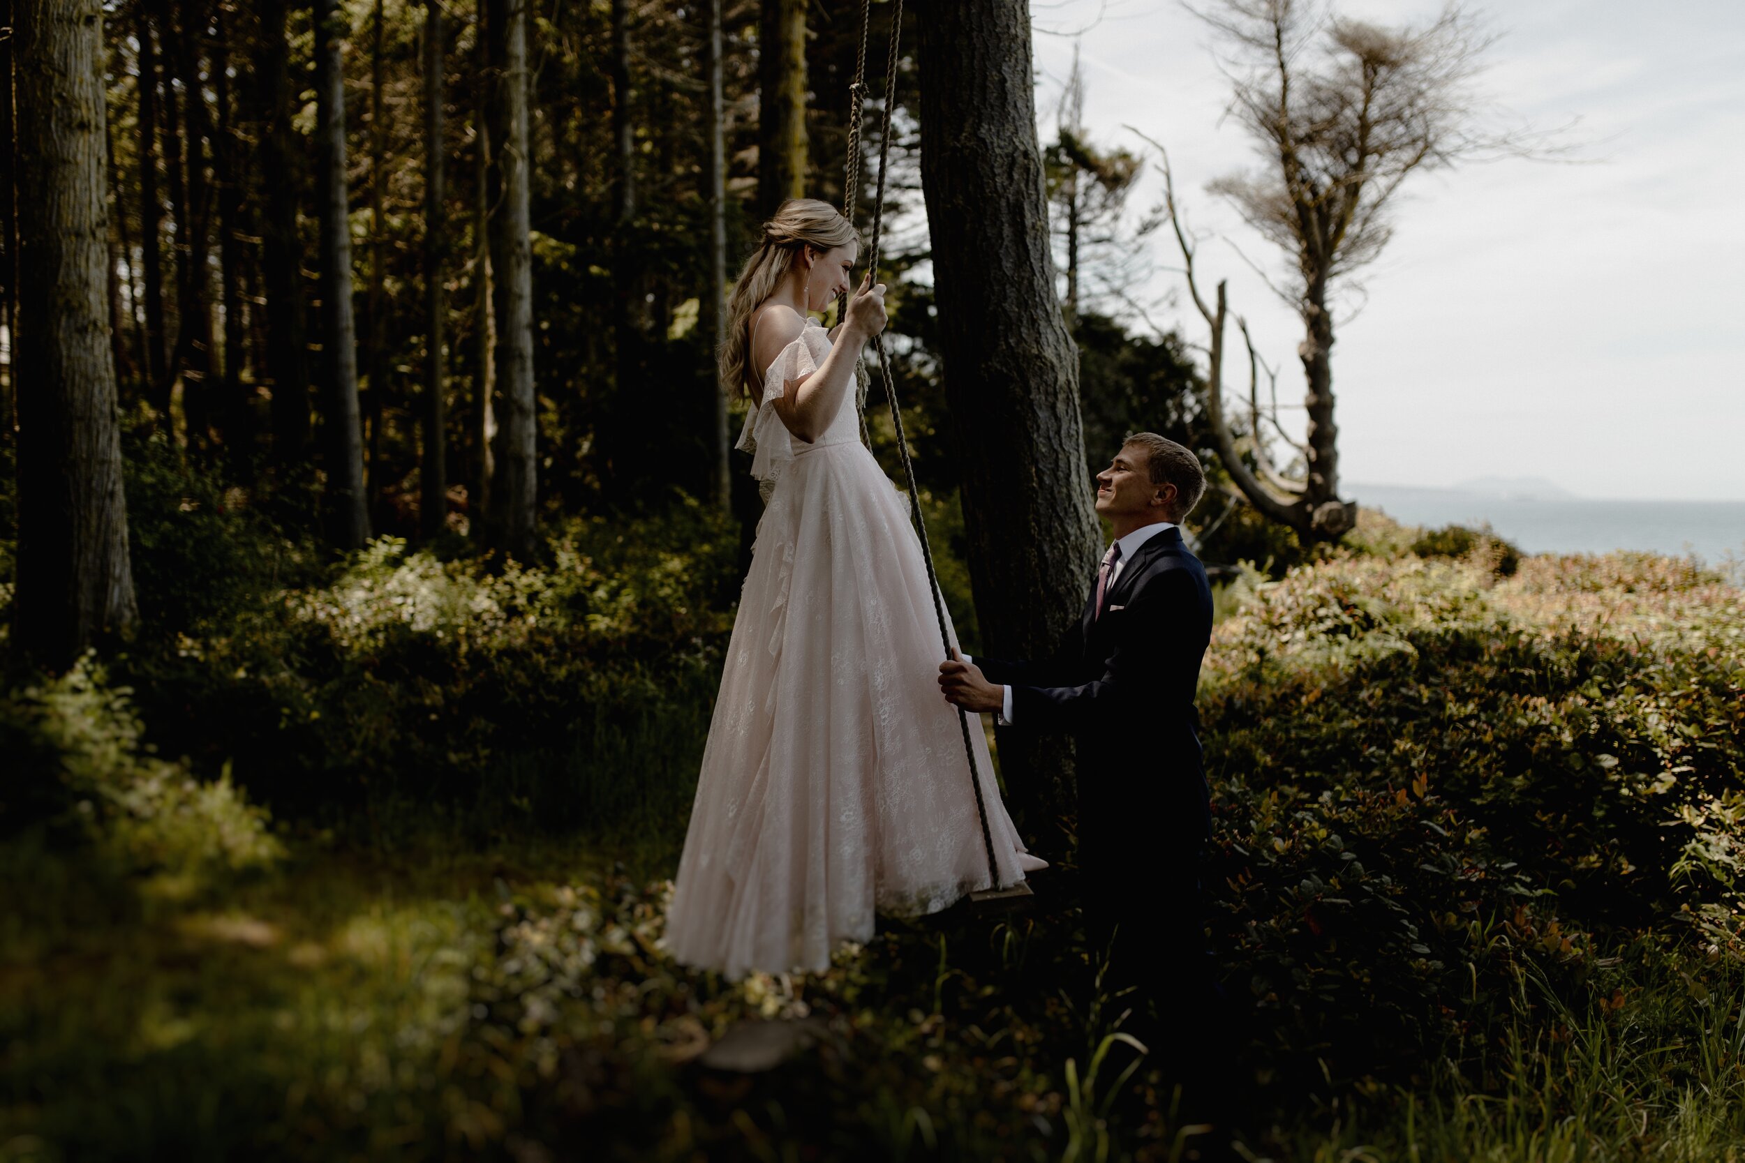
[{"label": "wide sunlit leafy bush right of the man, below the ocean", "polygon": [[1675,919],[1736,945],[1740,591],[1658,558],[1499,582],[1476,556],[1239,589],[1201,699],[1211,881],[1281,1079],[1424,1081],[1495,1034],[1523,957],[1574,990],[1595,942]]}]

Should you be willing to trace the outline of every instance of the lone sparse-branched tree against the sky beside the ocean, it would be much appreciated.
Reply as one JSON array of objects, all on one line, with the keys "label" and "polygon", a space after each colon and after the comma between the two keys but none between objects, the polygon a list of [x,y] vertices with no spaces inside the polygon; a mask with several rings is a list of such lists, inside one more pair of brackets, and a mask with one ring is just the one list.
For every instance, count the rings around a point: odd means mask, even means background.
[{"label": "lone sparse-branched tree against the sky beside the ocean", "polygon": [[[1488,40],[1455,3],[1427,24],[1399,28],[1344,17],[1317,0],[1218,0],[1201,16],[1225,51],[1230,112],[1265,159],[1213,190],[1284,251],[1286,277],[1276,289],[1304,324],[1297,354],[1307,389],[1307,474],[1269,474],[1277,481],[1270,488],[1244,471],[1232,478],[1298,537],[1337,539],[1356,523],[1358,506],[1338,497],[1333,302],[1387,246],[1394,194],[1406,178],[1471,157],[1532,152],[1532,134],[1483,124],[1471,82]],[[1187,239],[1178,241],[1187,251]],[[1222,330],[1222,295],[1216,310],[1197,291],[1195,302]],[[1234,466],[1228,424],[1216,403],[1211,413],[1220,459]],[[1263,455],[1263,445],[1255,452]]]}]

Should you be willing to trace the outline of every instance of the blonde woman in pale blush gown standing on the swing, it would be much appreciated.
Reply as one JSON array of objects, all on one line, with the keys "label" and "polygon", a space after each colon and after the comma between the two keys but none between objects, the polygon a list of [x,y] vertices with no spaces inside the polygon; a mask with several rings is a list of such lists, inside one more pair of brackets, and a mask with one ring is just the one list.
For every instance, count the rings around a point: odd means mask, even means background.
[{"label": "blonde woman in pale blush gown standing on the swing", "polygon": [[[667,915],[684,964],[822,971],[876,912],[916,915],[989,888],[920,539],[859,438],[855,359],[885,330],[867,275],[832,345],[808,312],[850,288],[853,227],[810,199],[763,228],[729,302],[722,382],[766,507],[728,645]],[[953,645],[956,635],[953,633]],[[974,727],[974,724],[972,724]],[[1045,867],[970,731],[1000,881]]]}]

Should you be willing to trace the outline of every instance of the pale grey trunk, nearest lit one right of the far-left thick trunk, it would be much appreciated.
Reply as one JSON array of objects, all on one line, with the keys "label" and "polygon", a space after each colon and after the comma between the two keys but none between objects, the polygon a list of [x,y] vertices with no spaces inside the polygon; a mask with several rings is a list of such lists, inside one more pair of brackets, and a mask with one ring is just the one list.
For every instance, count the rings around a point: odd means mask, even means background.
[{"label": "pale grey trunk, nearest lit one right of the far-left thick trunk", "polygon": [[346,188],[344,44],[351,30],[339,0],[314,0],[316,202],[321,213],[321,364],[326,380],[328,537],[340,549],[370,539],[358,425],[358,335],[351,309],[351,225]]}]

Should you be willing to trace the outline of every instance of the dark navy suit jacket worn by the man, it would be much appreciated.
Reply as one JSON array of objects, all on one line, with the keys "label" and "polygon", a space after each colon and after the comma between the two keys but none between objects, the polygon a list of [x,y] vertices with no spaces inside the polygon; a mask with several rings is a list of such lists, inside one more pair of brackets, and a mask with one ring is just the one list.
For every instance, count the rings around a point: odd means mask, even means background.
[{"label": "dark navy suit jacket worn by the man", "polygon": [[1012,687],[1014,727],[1077,738],[1087,872],[1155,861],[1160,844],[1197,858],[1211,826],[1194,710],[1211,640],[1206,568],[1166,528],[1127,560],[1101,617],[1094,603],[1096,586],[1050,659],[975,664]]}]

